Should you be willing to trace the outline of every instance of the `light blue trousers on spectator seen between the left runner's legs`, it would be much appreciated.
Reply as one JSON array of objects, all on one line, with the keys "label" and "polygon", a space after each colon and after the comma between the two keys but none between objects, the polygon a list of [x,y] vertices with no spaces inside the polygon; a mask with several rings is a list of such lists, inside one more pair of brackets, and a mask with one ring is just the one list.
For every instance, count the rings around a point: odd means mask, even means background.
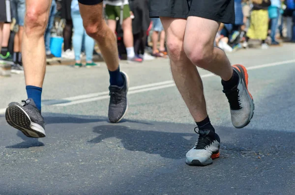
[{"label": "light blue trousers on spectator seen between the left runner's legs", "polygon": [[72,39],[74,52],[75,52],[75,59],[80,60],[80,54],[82,50],[82,42],[85,45],[85,54],[86,54],[86,61],[92,61],[93,50],[94,50],[94,40],[89,37],[86,33],[85,28],[83,27],[83,20],[80,15],[79,11],[71,11],[71,16],[73,20],[74,26],[74,36]]}]

